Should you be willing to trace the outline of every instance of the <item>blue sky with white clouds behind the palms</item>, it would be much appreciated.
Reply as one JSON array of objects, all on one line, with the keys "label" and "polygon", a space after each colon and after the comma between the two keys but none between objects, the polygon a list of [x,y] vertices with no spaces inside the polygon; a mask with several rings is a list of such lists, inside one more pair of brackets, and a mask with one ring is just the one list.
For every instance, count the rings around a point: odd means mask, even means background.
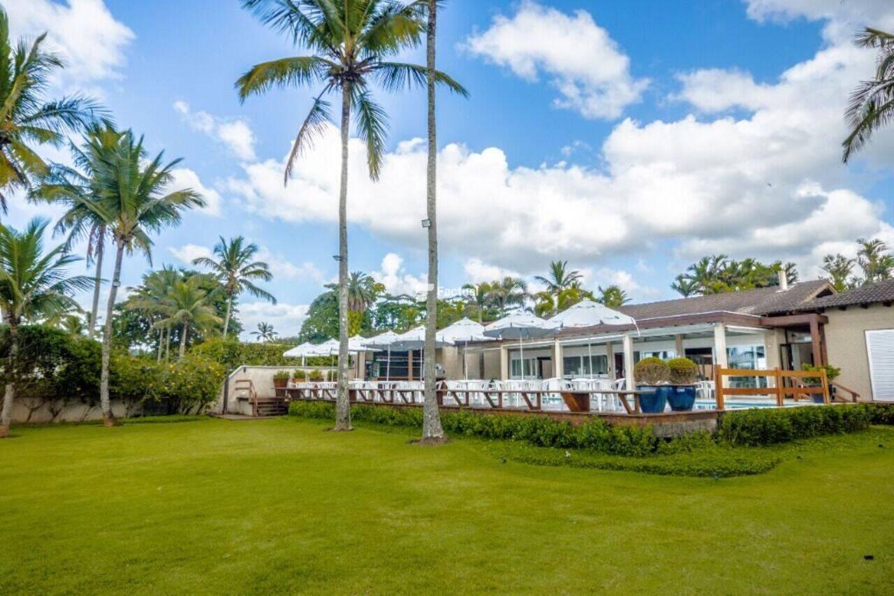
[{"label": "blue sky with white clouds behind the palms", "polygon": [[[0,4],[14,36],[47,31],[63,55],[55,95],[99,98],[150,151],[182,158],[175,184],[207,200],[156,237],[153,266],[189,265],[220,236],[243,235],[278,299],[242,298],[243,336],[261,320],[296,334],[337,277],[338,132],[284,186],[314,89],[240,103],[233,83],[303,48],[238,0]],[[442,294],[568,260],[587,287],[650,302],[673,298],[673,277],[705,254],[792,260],[815,278],[823,255],[853,256],[857,238],[894,244],[894,130],[840,159],[848,95],[873,72],[873,52],[853,44],[865,26],[894,30],[890,0],[444,3],[438,68],[470,95],[437,98]],[[424,64],[424,51],[401,59]],[[350,269],[413,293],[426,280],[425,93],[376,98],[390,115],[387,154],[373,183],[350,141]],[[10,203],[13,226],[60,214]],[[149,267],[129,257],[123,284]]]}]

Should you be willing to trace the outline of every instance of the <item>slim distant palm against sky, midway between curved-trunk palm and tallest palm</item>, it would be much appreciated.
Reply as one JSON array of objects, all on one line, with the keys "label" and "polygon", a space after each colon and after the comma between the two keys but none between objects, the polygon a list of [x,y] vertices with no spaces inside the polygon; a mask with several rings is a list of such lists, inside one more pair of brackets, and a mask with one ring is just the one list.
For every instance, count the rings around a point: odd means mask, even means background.
[{"label": "slim distant palm against sky, midway between curved-trunk palm and tallest palm", "polygon": [[232,300],[243,292],[263,298],[268,302],[276,303],[273,294],[254,285],[254,280],[270,281],[273,274],[270,267],[262,260],[253,260],[257,253],[257,244],[245,243],[245,238],[236,236],[230,242],[223,240],[215,244],[214,253],[217,260],[208,257],[199,257],[192,261],[193,265],[201,265],[211,268],[217,280],[223,285],[226,293],[226,316],[223,319],[223,337],[226,338],[227,329],[230,327],[230,313]]}]

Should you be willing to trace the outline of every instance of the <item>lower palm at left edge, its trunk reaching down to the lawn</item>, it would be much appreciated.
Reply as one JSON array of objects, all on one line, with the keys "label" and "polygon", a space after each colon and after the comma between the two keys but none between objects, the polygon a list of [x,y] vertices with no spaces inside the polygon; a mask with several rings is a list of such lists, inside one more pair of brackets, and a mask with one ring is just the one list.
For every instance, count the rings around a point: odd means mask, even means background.
[{"label": "lower palm at left edge, its trunk reaching down to the lawn", "polygon": [[66,254],[64,246],[44,254],[46,226],[44,219],[32,219],[21,232],[0,225],[0,310],[10,334],[0,438],[9,433],[13,416],[21,320],[53,317],[76,309],[72,294],[90,285],[89,277],[66,275],[68,266],[80,259]]}]

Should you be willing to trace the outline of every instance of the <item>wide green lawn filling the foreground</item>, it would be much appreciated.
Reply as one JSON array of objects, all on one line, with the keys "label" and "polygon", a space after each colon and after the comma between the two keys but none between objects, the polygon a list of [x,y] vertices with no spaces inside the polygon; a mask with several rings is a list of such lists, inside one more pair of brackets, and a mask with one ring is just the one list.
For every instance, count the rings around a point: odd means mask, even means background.
[{"label": "wide green lawn filling the foreground", "polygon": [[0,593],[894,590],[890,428],[719,481],[324,428],[16,429]]}]

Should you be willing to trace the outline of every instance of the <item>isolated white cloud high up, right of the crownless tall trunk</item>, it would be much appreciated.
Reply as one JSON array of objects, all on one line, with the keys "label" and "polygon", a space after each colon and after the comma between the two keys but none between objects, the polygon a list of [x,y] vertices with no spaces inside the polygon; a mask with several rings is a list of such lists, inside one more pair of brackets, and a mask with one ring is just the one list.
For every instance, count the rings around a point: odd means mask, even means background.
[{"label": "isolated white cloud high up, right of the crownless tall trunk", "polygon": [[569,15],[526,1],[511,18],[496,16],[465,47],[526,81],[544,73],[561,95],[555,105],[587,118],[617,118],[648,86],[630,75],[628,56],[583,10]]}]

